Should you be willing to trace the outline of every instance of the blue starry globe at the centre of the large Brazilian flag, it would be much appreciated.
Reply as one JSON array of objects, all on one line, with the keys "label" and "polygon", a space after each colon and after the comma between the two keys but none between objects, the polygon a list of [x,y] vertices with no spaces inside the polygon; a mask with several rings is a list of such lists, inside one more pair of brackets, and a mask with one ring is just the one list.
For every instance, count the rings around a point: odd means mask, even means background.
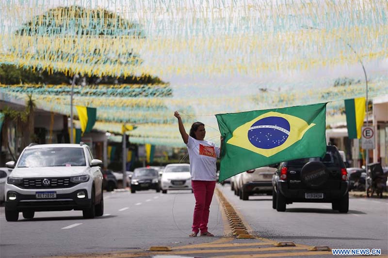
[{"label": "blue starry globe at the centre of the large Brazilian flag", "polygon": [[282,117],[266,117],[256,121],[248,130],[249,142],[260,149],[282,145],[290,135],[290,123]]}]

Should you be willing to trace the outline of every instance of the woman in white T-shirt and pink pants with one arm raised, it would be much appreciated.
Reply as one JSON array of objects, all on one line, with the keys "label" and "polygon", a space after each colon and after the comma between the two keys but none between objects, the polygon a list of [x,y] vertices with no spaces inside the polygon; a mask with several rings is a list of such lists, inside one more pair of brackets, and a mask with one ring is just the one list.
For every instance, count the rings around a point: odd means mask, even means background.
[{"label": "woman in white T-shirt and pink pants with one arm raised", "polygon": [[175,111],[174,116],[178,118],[179,132],[189,152],[191,184],[195,197],[193,232],[189,236],[196,237],[201,231],[201,236],[212,237],[214,235],[208,231],[208,221],[216,183],[216,161],[220,157],[223,138],[221,137],[220,148],[214,142],[204,140],[205,125],[201,122],[194,122],[188,135],[178,111]]}]

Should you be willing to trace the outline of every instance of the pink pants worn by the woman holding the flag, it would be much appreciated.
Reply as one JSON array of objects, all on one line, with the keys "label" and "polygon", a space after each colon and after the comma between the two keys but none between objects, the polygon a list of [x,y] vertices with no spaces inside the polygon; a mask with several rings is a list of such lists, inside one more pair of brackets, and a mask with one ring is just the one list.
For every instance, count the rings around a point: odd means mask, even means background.
[{"label": "pink pants worn by the woman holding the flag", "polygon": [[192,180],[195,208],[192,230],[196,233],[208,231],[210,203],[213,197],[215,181]]}]

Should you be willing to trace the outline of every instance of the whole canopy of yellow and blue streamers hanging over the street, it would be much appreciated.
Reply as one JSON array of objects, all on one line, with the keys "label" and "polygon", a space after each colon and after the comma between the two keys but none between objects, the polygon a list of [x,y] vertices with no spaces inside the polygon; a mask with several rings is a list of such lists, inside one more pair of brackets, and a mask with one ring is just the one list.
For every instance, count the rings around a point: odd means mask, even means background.
[{"label": "whole canopy of yellow and blue streamers hanging over the street", "polygon": [[[327,123],[344,121],[337,100],[366,94],[360,61],[369,95],[388,94],[387,17],[386,0],[2,0],[0,65],[139,80],[76,85],[74,106],[97,108],[97,130],[128,123],[133,143],[183,146],[174,110],[209,137],[217,113],[329,102]],[[140,83],[149,76],[166,83]],[[0,85],[4,101],[32,94],[64,115],[70,91]]]}]

